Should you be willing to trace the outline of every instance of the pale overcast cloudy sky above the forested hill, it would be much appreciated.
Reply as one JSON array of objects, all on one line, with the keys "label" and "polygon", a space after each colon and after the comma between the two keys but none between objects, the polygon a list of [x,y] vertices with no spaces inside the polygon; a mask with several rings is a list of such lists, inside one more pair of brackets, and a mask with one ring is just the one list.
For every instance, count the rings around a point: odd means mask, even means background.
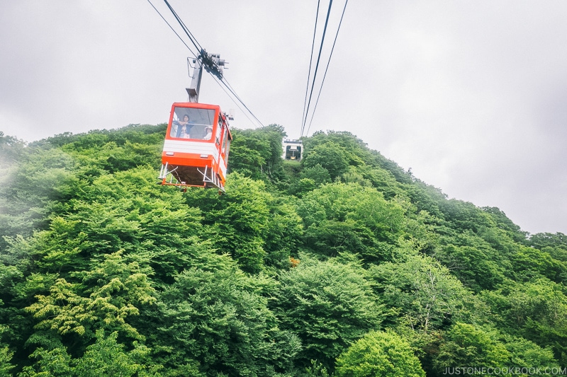
[{"label": "pale overcast cloudy sky above the forested hill", "polygon": [[[317,1],[169,1],[254,115],[299,137]],[[566,20],[564,0],[350,0],[309,133],[352,132],[449,197],[567,233]],[[191,52],[146,0],[1,1],[0,51],[0,131],[26,141],[165,122],[187,99]],[[210,76],[200,100],[257,127]]]}]

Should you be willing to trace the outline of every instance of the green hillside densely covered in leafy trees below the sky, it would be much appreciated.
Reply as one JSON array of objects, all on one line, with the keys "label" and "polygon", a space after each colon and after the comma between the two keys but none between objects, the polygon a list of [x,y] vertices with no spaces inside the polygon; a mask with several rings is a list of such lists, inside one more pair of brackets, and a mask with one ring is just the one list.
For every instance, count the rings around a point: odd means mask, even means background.
[{"label": "green hillside densely covered in leafy trees below the sky", "polygon": [[235,129],[225,195],[180,192],[165,129],[0,133],[0,375],[567,373],[567,236],[348,132]]}]

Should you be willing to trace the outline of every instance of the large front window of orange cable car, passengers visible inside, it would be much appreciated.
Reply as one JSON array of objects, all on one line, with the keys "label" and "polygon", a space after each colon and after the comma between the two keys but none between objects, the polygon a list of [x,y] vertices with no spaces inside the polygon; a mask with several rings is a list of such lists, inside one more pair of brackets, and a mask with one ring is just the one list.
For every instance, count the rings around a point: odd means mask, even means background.
[{"label": "large front window of orange cable car, passengers visible inside", "polygon": [[175,108],[170,137],[179,139],[210,140],[213,135],[215,110]]}]

